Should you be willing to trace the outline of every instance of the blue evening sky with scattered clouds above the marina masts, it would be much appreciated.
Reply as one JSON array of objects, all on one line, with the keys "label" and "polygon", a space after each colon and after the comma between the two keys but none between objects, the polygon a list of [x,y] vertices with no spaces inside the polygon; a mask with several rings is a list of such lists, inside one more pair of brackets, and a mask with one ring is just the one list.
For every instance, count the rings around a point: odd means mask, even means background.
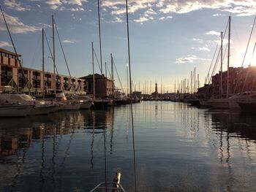
[{"label": "blue evening sky with scattered clouds above the marina masts", "polygon": [[[72,77],[92,74],[91,42],[94,42],[100,65],[97,0],[0,0],[0,4],[15,47],[22,55],[23,66],[42,69],[42,27],[52,50],[52,15],[60,37],[55,31],[59,74],[69,74],[59,42],[64,48]],[[226,70],[229,16],[230,66],[256,65],[252,54],[256,40],[253,25],[256,1],[128,0],[128,5],[131,72],[136,91],[153,92],[157,82],[159,92],[173,92],[181,80],[190,82],[194,70],[196,77],[199,74],[202,86],[211,63],[217,62],[217,71],[220,69],[214,52],[219,50],[221,31],[226,31],[223,40],[223,69]],[[114,74],[116,85],[126,92],[128,49],[125,0],[99,0],[99,10],[102,71],[105,74],[105,62],[110,71],[112,53],[118,72]],[[2,15],[0,47],[13,51]],[[97,58],[94,58],[94,69],[100,73]],[[46,40],[45,71],[53,72]],[[108,70],[107,76],[110,77]]]}]

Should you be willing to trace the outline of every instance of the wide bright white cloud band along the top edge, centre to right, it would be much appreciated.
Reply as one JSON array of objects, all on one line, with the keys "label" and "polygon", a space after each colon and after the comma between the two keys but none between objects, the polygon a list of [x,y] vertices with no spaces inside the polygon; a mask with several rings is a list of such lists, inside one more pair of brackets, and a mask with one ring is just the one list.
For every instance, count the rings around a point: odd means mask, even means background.
[{"label": "wide bright white cloud band along the top edge, centre to right", "polygon": [[[105,0],[102,7],[110,9],[111,14],[121,15],[126,12],[125,1]],[[255,15],[256,1],[252,0],[130,0],[129,12],[134,13],[143,9],[156,8],[154,12],[162,14],[184,14],[199,9],[217,9],[221,12],[230,12],[238,16]],[[214,15],[219,16],[219,15]]]}]

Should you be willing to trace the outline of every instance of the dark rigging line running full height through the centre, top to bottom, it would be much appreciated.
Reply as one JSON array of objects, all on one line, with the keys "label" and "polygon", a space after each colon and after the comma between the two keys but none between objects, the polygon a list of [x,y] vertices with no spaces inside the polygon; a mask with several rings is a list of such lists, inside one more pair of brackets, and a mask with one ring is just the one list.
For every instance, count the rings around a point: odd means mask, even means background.
[{"label": "dark rigging line running full height through the centre, top to bottom", "polygon": [[[132,74],[131,74],[131,56],[129,50],[129,18],[128,18],[128,0],[126,0],[127,8],[127,44],[128,44],[128,56],[129,56],[129,93],[132,96]],[[131,118],[132,118],[132,147],[133,147],[133,164],[134,164],[134,176],[135,176],[135,192],[137,191],[137,179],[136,179],[136,161],[135,161],[135,131],[133,122],[133,112],[132,112],[132,98],[130,102],[131,107]]]}]

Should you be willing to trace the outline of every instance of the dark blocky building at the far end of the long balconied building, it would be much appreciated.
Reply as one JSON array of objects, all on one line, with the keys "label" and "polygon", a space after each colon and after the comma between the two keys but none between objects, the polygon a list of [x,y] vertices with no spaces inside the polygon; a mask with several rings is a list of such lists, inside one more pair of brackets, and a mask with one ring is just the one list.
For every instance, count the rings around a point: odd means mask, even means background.
[{"label": "dark blocky building at the far end of the long balconied building", "polygon": [[86,81],[86,93],[89,95],[94,94],[94,80],[95,80],[95,97],[106,98],[113,96],[114,93],[114,81],[104,74],[89,74],[80,79]]}]

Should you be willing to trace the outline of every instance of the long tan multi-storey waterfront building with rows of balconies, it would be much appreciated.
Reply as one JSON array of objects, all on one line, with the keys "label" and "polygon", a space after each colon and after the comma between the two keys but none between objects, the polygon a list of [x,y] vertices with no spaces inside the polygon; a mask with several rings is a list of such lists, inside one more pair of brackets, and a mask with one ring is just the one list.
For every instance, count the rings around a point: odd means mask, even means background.
[{"label": "long tan multi-storey waterfront building with rows of balconies", "polygon": [[[18,55],[17,58],[15,53],[0,48],[0,89],[5,85],[12,85],[18,91],[28,92],[29,86],[31,93],[35,95],[42,93],[43,83],[45,83],[45,90],[53,91],[53,73],[45,72],[45,77],[42,77],[42,71],[23,67],[24,77],[18,59],[21,61],[21,55]],[[26,85],[26,80],[28,80],[29,85]],[[56,91],[64,90],[66,93],[72,89],[83,93],[86,91],[86,81],[76,77],[56,74],[55,82]]]}]

